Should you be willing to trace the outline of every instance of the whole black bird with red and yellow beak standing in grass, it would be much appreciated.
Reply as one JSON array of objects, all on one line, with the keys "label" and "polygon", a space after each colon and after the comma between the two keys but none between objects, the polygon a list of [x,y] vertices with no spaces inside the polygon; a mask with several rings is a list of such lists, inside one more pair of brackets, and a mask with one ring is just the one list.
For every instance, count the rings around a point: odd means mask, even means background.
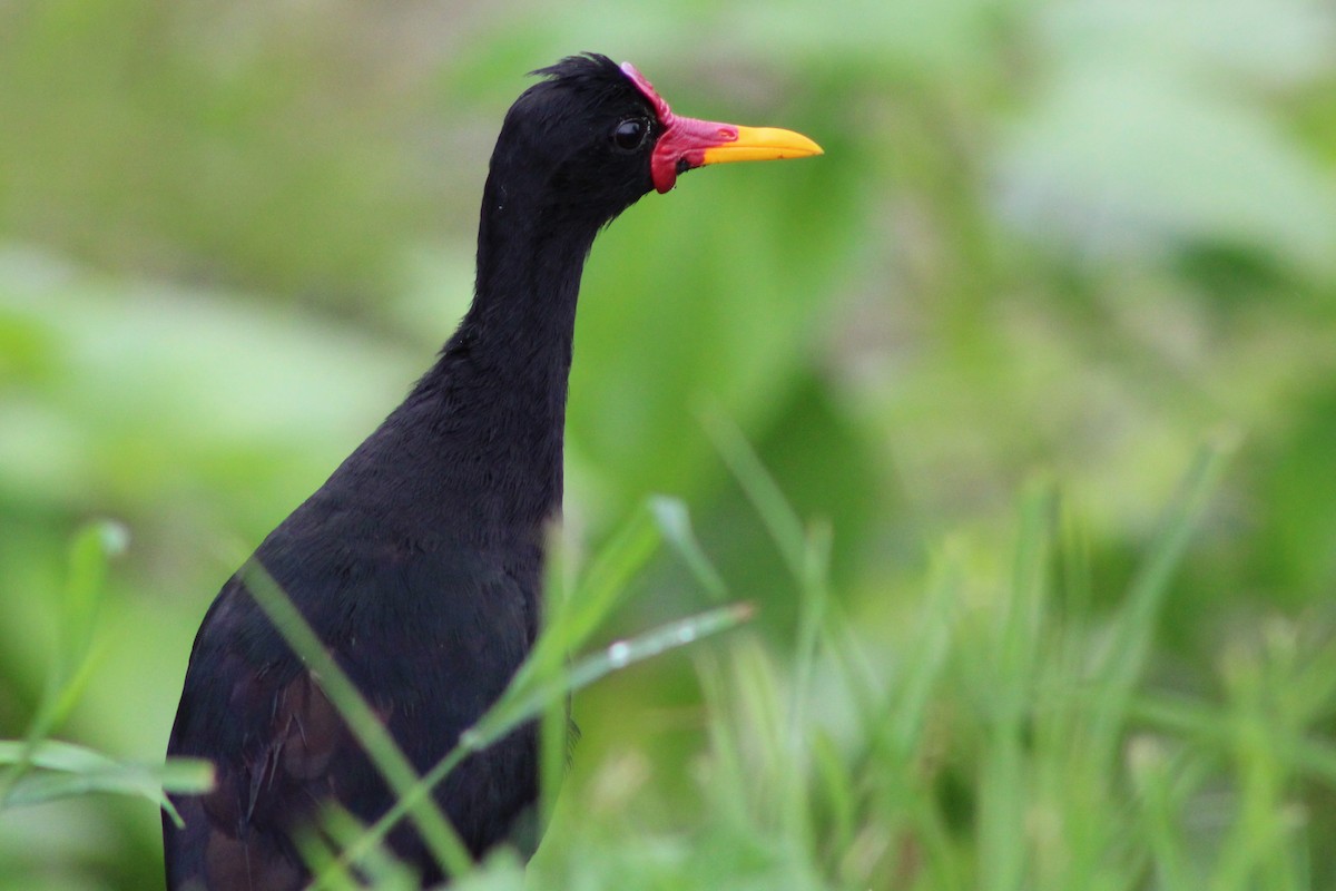
[{"label": "whole black bird with red and yellow beak standing in grass", "polygon": [[[595,235],[651,188],[716,162],[820,154],[786,130],[673,115],[629,64],[568,57],[506,114],[482,192],[473,305],[436,365],[255,560],[426,772],[500,696],[538,628],[544,528],[561,510],[576,295]],[[163,820],[170,888],[278,891],[322,801],[363,822],[394,799],[302,661],[232,576],[204,616],[170,756],[216,788]],[[537,795],[536,732],[464,761],[436,799],[473,856]],[[442,868],[403,822],[390,846]]]}]

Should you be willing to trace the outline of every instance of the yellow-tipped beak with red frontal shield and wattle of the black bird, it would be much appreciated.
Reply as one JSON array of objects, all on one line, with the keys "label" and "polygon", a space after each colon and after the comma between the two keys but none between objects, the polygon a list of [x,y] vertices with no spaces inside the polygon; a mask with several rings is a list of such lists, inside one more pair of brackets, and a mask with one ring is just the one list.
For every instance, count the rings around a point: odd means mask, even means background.
[{"label": "yellow-tipped beak with red frontal shield and wattle of the black bird", "polygon": [[668,103],[631,63],[621,69],[653,104],[663,132],[655,143],[649,172],[655,188],[667,192],[677,175],[693,167],[733,160],[776,160],[820,155],[822,147],[802,134],[778,127],[739,127],[672,114]]}]

